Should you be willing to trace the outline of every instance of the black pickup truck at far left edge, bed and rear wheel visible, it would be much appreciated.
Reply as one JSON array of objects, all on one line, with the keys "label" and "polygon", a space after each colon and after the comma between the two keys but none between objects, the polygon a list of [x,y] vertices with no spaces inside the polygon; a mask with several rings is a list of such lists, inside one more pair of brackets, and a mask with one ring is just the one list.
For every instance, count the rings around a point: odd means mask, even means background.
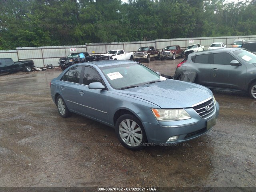
[{"label": "black pickup truck at far left edge, bed and rear wheel visible", "polygon": [[1,58],[0,59],[0,73],[10,73],[16,71],[32,71],[34,61],[18,61],[14,62],[12,58]]}]

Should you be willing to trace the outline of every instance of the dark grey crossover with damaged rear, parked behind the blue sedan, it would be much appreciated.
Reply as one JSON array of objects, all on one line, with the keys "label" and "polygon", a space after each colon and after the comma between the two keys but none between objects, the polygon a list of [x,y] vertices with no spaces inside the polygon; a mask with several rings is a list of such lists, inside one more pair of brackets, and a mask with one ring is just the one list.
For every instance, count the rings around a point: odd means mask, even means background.
[{"label": "dark grey crossover with damaged rear, parked behind the blue sedan", "polygon": [[176,68],[175,79],[195,72],[194,83],[223,90],[248,92],[256,99],[256,55],[243,48],[226,48],[191,53]]}]

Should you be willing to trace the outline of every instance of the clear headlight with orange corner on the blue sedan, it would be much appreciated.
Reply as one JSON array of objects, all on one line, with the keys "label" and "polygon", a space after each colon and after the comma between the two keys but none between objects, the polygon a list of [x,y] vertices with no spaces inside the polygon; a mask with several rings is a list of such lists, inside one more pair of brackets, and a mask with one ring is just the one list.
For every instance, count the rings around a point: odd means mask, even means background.
[{"label": "clear headlight with orange corner on the blue sedan", "polygon": [[177,121],[191,119],[184,109],[151,109],[154,116],[159,121]]}]

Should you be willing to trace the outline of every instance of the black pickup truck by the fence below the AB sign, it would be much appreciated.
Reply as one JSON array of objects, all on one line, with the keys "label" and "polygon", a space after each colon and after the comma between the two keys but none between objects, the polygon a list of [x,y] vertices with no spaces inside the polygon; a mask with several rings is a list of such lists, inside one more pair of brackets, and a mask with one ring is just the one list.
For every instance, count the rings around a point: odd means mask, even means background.
[{"label": "black pickup truck by the fence below the AB sign", "polygon": [[65,70],[71,65],[82,62],[90,62],[95,60],[108,60],[108,56],[90,56],[87,52],[71,53],[67,57],[60,58],[59,66],[62,70]]}]

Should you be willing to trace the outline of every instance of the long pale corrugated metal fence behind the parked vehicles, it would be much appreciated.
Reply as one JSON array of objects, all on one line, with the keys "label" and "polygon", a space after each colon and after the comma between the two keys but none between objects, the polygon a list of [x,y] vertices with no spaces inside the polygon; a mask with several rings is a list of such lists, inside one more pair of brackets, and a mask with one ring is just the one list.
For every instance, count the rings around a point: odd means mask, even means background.
[{"label": "long pale corrugated metal fence behind the parked vehicles", "polygon": [[[0,51],[0,58],[12,58],[14,61],[33,60],[36,67],[52,64],[58,66],[59,58],[66,57],[72,52],[88,52],[89,54],[102,54],[108,50],[123,49],[125,52],[135,52],[143,46],[154,46],[162,50],[166,46],[180,45],[186,48],[191,44],[200,43],[204,45],[205,50],[213,42],[224,42],[227,47],[236,39],[254,40],[254,36],[229,36],[229,37],[200,37],[200,38],[179,38],[179,39],[158,39],[154,41],[140,42],[112,42],[112,43],[90,43],[77,46],[49,46],[49,47],[25,47],[16,48],[16,50]],[[72,50],[71,50],[72,49]],[[74,51],[74,49],[76,49]]]}]

